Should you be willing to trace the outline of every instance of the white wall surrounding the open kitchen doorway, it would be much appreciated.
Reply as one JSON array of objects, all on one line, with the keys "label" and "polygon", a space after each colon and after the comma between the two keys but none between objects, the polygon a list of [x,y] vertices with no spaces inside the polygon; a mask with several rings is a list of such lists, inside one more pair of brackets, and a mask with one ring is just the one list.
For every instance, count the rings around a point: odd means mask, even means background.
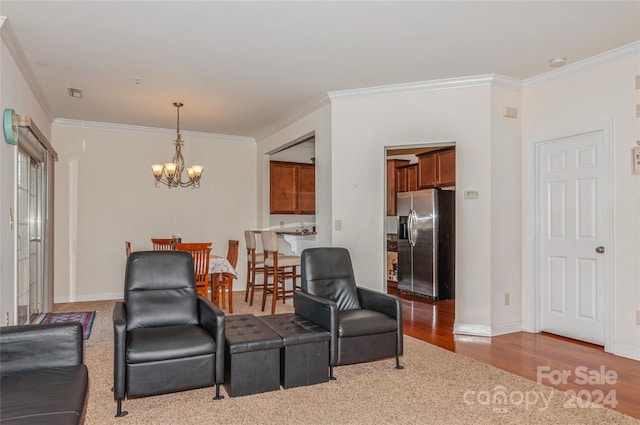
[{"label": "white wall surrounding the open kitchen doorway", "polygon": [[[455,142],[458,325],[492,324],[492,168],[500,163],[492,157],[491,84],[487,77],[459,88],[346,96],[332,104],[333,216],[343,229],[334,232],[334,244],[349,248],[363,286],[385,288],[385,147]],[[480,198],[463,199],[465,188]],[[517,252],[506,255],[506,264],[518,263]]]}]

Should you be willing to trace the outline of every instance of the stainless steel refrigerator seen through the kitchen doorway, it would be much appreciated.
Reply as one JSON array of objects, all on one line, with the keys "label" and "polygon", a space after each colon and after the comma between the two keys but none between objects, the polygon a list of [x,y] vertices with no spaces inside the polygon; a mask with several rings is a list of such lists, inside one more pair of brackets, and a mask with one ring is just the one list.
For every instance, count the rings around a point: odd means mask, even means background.
[{"label": "stainless steel refrigerator seen through the kitchen doorway", "polygon": [[398,290],[454,298],[455,191],[398,193]]}]

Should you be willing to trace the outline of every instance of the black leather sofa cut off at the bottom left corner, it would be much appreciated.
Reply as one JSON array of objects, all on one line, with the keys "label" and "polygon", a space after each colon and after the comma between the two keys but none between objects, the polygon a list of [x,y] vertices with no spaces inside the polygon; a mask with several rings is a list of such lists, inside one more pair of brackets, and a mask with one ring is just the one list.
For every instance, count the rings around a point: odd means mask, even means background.
[{"label": "black leather sofa cut off at the bottom left corner", "polygon": [[89,374],[80,323],[0,329],[0,422],[81,424]]}]

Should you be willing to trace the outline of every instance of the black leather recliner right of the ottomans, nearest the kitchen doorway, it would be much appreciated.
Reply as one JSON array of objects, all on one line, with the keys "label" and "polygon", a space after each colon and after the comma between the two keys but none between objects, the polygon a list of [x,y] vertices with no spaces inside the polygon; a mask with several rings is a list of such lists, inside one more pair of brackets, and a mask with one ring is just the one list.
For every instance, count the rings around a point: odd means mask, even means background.
[{"label": "black leather recliner right of the ottomans, nearest the kitchen doorway", "polygon": [[356,286],[345,248],[308,248],[301,255],[302,290],[295,311],[331,335],[333,367],[402,355],[402,302],[398,297]]}]

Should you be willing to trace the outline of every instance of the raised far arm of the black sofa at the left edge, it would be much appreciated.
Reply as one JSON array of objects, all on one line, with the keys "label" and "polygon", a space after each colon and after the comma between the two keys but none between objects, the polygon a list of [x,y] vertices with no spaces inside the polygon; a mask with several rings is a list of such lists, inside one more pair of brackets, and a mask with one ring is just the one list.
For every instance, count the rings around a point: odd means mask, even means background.
[{"label": "raised far arm of the black sofa at the left edge", "polygon": [[4,374],[77,366],[83,348],[80,323],[7,326],[0,331],[0,368]]}]

